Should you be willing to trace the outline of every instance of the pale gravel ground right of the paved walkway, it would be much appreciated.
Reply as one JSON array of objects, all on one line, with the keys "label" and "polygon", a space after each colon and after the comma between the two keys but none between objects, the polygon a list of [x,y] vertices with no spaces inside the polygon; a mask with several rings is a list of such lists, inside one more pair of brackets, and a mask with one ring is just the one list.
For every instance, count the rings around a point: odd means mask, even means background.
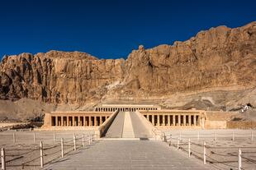
[{"label": "pale gravel ground right of the paved walkway", "polygon": [[[199,132],[199,138],[198,138]],[[233,140],[234,133],[234,140]],[[252,140],[253,133],[253,140]],[[206,142],[206,162],[216,169],[237,169],[238,150],[242,151],[242,169],[256,169],[256,131],[249,130],[181,130],[165,131],[168,143],[187,152],[191,139],[192,156],[203,163],[203,142]],[[170,138],[171,136],[171,138]]]}]

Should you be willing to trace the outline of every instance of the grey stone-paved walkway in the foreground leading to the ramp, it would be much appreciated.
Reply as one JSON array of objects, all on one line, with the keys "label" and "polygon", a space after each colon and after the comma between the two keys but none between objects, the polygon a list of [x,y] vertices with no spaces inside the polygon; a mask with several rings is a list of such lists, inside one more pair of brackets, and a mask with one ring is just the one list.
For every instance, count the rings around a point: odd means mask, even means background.
[{"label": "grey stone-paved walkway in the foreground leading to the ramp", "polygon": [[153,140],[100,140],[44,169],[211,169],[195,158]]}]

